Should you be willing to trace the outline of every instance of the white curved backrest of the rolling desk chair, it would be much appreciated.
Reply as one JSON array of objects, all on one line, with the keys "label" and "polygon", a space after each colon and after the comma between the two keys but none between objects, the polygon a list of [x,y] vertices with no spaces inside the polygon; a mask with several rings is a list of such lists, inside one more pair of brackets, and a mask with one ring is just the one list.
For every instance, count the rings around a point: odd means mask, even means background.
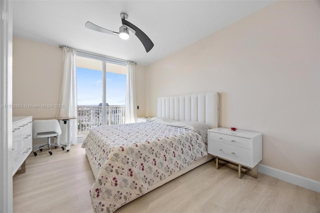
[{"label": "white curved backrest of the rolling desk chair", "polygon": [[61,134],[58,120],[33,120],[32,133],[34,138],[57,136]]}]

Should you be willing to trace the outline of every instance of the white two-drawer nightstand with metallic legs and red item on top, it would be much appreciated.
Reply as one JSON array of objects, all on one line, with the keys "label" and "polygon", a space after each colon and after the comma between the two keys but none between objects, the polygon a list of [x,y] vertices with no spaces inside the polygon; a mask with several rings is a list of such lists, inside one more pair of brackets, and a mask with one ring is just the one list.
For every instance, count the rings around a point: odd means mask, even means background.
[{"label": "white two-drawer nightstand with metallic legs and red item on top", "polygon": [[215,157],[216,168],[226,165],[257,177],[257,164],[262,160],[262,134],[229,128],[208,130],[208,153]]}]

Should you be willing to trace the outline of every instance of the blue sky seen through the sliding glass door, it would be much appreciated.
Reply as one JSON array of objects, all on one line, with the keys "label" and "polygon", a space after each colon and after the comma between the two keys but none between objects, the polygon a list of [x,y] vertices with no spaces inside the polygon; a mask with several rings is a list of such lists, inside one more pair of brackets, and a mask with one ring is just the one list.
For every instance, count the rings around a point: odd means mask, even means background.
[{"label": "blue sky seen through the sliding glass door", "polygon": [[[77,105],[102,103],[102,71],[76,67]],[[106,102],[125,105],[126,75],[106,72]]]}]

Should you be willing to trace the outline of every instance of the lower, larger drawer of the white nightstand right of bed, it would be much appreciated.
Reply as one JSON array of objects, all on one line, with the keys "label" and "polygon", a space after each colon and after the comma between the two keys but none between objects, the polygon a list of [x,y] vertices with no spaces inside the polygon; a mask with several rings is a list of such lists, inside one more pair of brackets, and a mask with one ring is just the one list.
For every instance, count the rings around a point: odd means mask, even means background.
[{"label": "lower, larger drawer of the white nightstand right of bed", "polygon": [[251,149],[209,140],[208,152],[212,155],[225,158],[245,166],[253,166],[251,163]]}]

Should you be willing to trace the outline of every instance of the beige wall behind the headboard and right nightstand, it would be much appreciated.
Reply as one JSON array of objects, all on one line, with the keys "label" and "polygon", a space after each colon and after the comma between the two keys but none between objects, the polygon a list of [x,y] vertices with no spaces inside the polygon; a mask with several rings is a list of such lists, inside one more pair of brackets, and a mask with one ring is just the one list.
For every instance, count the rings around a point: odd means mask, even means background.
[{"label": "beige wall behind the headboard and right nightstand", "polygon": [[218,91],[220,126],[262,132],[262,164],[320,181],[319,2],[275,2],[147,66],[147,115]]}]

